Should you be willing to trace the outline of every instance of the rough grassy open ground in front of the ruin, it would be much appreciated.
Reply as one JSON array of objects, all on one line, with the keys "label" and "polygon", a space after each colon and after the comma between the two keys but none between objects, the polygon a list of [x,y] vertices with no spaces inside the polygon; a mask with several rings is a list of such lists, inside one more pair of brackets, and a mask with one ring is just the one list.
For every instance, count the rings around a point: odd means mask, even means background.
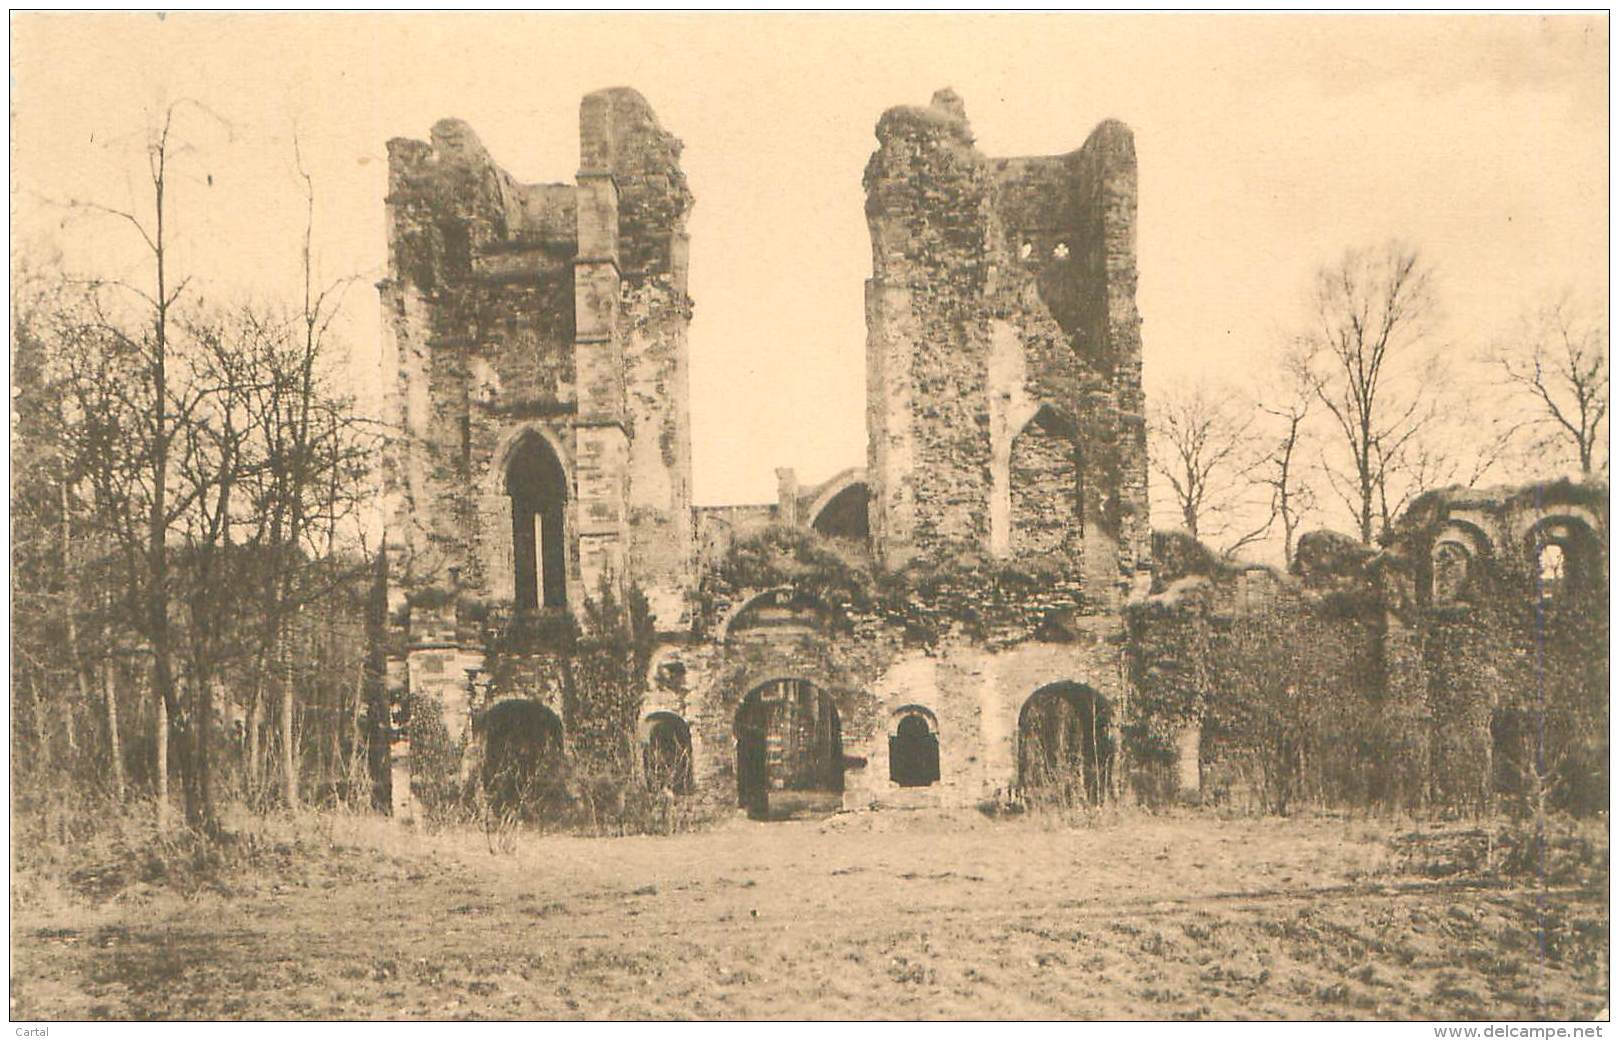
[{"label": "rough grassy open ground in front of the ruin", "polygon": [[[193,895],[13,889],[11,1018],[1595,1018],[1601,877],[1381,821],[325,826]],[[1454,837],[1452,837],[1454,839]],[[1409,850],[1425,850],[1412,858]],[[1402,853],[1402,850],[1407,850]]]}]

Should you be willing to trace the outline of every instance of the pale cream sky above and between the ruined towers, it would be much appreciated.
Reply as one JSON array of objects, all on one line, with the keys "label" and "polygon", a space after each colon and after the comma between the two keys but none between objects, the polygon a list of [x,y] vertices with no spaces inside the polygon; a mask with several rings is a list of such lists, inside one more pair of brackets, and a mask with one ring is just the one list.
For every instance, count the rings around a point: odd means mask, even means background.
[{"label": "pale cream sky above and between the ruined towers", "polygon": [[570,181],[580,97],[640,89],[698,199],[699,504],[865,463],[860,178],[881,112],[942,86],[988,155],[1135,130],[1149,397],[1251,379],[1313,270],[1391,236],[1438,269],[1459,353],[1549,291],[1606,300],[1601,16],[15,15],[11,42],[15,244],[139,270],[133,232],[42,199],[130,206],[151,113],[194,99],[230,126],[181,123],[176,262],[212,298],[290,298],[296,128],[321,270],[363,277],[343,335],[371,400],[384,142],[455,115],[518,180]]}]

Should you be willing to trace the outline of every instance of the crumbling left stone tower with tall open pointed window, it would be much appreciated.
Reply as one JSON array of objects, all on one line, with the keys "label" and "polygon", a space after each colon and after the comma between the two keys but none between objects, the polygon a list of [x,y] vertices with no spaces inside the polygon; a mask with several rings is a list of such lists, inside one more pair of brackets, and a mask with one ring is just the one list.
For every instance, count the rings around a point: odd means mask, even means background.
[{"label": "crumbling left stone tower with tall open pointed window", "polygon": [[581,102],[573,183],[515,181],[458,120],[389,142],[390,685],[452,732],[510,620],[635,583],[690,622],[680,149],[625,87]]}]

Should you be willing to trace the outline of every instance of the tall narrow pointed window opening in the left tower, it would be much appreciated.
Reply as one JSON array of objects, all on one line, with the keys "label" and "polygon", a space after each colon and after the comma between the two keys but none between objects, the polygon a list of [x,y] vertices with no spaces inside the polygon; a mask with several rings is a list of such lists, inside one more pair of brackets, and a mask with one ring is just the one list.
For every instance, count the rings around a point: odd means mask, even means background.
[{"label": "tall narrow pointed window opening in the left tower", "polygon": [[512,567],[516,607],[567,607],[568,550],[565,516],[568,479],[562,460],[539,434],[513,447],[507,463],[512,497]]}]

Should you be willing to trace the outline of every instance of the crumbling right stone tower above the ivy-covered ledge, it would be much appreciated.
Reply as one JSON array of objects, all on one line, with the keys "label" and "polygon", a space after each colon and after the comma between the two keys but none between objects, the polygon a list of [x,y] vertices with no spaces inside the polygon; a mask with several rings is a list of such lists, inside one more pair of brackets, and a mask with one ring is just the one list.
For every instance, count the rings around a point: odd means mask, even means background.
[{"label": "crumbling right stone tower above the ivy-covered ledge", "polygon": [[1135,142],[986,159],[962,100],[890,108],[866,167],[871,536],[890,565],[1041,562],[1086,612],[1149,567]]}]

